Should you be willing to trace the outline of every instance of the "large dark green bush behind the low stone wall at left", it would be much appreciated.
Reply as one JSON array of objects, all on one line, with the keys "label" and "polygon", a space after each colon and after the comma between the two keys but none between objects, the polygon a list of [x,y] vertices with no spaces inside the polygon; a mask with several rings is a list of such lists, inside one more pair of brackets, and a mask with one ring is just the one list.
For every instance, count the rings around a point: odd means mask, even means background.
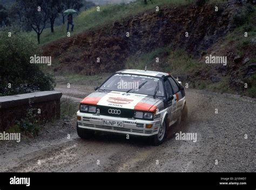
[{"label": "large dark green bush behind the low stone wall at left", "polygon": [[31,56],[40,56],[34,41],[23,32],[0,31],[0,96],[53,90],[55,82],[42,65],[30,63]]}]

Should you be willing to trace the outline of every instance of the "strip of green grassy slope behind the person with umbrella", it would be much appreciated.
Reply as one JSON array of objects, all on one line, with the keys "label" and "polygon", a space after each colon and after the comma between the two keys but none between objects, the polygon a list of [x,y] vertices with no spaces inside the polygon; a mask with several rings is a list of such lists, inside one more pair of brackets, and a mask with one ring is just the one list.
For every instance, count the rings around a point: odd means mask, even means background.
[{"label": "strip of green grassy slope behind the person with umbrella", "polygon": [[[95,27],[112,24],[114,21],[120,21],[127,17],[132,17],[143,13],[147,10],[154,9],[156,6],[172,7],[182,4],[192,3],[192,0],[152,0],[147,5],[139,0],[130,4],[109,4],[100,6],[98,12],[95,8],[80,12],[78,16],[73,18],[75,24],[73,35],[84,32]],[[37,39],[36,33],[31,32],[31,36]],[[41,35],[41,44],[53,42],[59,38],[66,37],[66,21],[64,25],[55,27],[55,33],[51,33],[50,29],[45,29]]]}]

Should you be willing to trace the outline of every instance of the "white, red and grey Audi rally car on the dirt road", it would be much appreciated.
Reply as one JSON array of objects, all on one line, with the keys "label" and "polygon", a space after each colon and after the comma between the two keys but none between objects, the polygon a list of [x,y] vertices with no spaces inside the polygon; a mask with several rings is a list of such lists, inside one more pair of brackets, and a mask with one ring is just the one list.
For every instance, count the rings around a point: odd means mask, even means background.
[{"label": "white, red and grey Audi rally car on the dirt road", "polygon": [[168,128],[187,114],[184,87],[168,73],[122,70],[95,90],[80,102],[80,138],[114,132],[149,137],[160,145]]}]

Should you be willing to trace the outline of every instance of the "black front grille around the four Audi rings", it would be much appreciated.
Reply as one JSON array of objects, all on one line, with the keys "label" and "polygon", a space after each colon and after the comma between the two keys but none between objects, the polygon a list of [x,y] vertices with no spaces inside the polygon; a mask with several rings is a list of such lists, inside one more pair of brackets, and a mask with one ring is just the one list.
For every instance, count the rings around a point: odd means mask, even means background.
[{"label": "black front grille around the four Audi rings", "polygon": [[[133,118],[134,110],[125,109],[125,108],[117,108],[117,107],[109,107],[109,106],[97,106],[99,109],[99,114],[103,116],[111,116],[111,117],[121,117],[121,118]],[[112,110],[120,110],[120,114],[109,113],[109,109]]]}]

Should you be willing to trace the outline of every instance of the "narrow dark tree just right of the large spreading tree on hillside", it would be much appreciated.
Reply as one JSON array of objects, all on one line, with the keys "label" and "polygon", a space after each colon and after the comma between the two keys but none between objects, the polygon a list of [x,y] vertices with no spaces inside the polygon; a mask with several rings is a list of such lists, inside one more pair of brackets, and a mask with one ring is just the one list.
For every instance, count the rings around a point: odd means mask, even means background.
[{"label": "narrow dark tree just right of the large spreading tree on hillside", "polygon": [[50,0],[49,5],[49,20],[51,24],[51,32],[54,32],[53,26],[55,19],[58,17],[59,13],[63,11],[62,0]]}]

